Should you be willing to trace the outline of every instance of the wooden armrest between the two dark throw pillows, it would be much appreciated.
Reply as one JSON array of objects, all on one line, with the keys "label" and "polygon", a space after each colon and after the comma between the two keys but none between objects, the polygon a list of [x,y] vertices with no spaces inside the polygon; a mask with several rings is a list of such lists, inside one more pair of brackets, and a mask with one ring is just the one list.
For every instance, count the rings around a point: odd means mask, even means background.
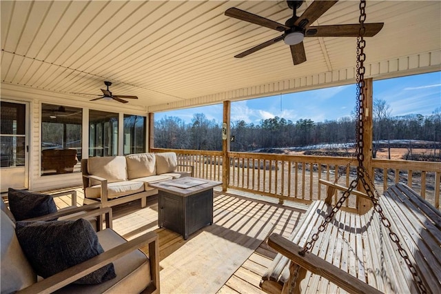
[{"label": "wooden armrest between the two dark throw pillows", "polygon": [[112,208],[105,207],[101,208],[101,204],[89,204],[80,207],[63,209],[57,213],[50,213],[48,215],[43,215],[41,217],[33,217],[32,219],[26,219],[27,221],[49,221],[51,219],[55,219],[58,217],[65,217],[69,215],[73,215],[75,213],[84,212],[80,215],[74,215],[72,217],[68,217],[67,219],[76,220],[76,219],[88,219],[89,217],[96,217],[96,231],[103,230],[103,216],[105,217],[105,227],[112,228],[113,224],[113,214]]}]

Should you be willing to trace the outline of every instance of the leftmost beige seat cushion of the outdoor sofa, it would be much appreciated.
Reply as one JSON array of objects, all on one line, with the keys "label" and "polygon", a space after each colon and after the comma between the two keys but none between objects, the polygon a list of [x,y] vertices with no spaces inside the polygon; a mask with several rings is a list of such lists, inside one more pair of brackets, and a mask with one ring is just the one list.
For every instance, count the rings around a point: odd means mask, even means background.
[{"label": "leftmost beige seat cushion of the outdoor sofa", "polygon": [[[122,181],[107,184],[107,199],[132,195],[144,191],[144,183],[139,181]],[[101,185],[95,185],[85,188],[85,197],[100,198]]]}]

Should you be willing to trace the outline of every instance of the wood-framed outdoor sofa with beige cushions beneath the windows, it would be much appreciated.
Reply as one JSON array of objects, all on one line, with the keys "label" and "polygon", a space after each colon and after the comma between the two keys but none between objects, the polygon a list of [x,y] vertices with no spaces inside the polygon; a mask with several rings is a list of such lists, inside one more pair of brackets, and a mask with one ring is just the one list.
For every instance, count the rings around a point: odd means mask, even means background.
[{"label": "wood-framed outdoor sofa with beige cushions beneath the windows", "polygon": [[141,199],[145,207],[147,197],[158,193],[149,183],[192,175],[192,166],[177,171],[178,166],[174,152],[81,159],[84,204],[101,202],[110,207]]}]

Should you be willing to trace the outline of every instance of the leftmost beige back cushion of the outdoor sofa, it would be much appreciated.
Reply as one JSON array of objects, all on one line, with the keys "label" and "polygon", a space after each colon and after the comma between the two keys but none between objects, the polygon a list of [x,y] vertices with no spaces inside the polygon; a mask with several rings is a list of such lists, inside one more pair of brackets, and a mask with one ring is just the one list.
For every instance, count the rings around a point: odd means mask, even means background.
[{"label": "leftmost beige back cushion of the outdoor sofa", "polygon": [[[107,179],[107,183],[125,181],[127,179],[125,157],[90,157],[88,159],[88,173]],[[98,181],[92,180],[92,186],[99,184]]]}]

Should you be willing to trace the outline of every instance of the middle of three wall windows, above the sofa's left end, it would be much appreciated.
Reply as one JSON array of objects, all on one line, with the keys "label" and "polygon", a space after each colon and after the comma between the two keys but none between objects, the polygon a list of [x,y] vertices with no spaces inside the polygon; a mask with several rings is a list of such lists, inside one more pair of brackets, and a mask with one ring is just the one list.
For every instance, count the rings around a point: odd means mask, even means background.
[{"label": "middle of three wall windows, above the sofa's left end", "polygon": [[89,156],[118,155],[118,113],[89,111]]}]

